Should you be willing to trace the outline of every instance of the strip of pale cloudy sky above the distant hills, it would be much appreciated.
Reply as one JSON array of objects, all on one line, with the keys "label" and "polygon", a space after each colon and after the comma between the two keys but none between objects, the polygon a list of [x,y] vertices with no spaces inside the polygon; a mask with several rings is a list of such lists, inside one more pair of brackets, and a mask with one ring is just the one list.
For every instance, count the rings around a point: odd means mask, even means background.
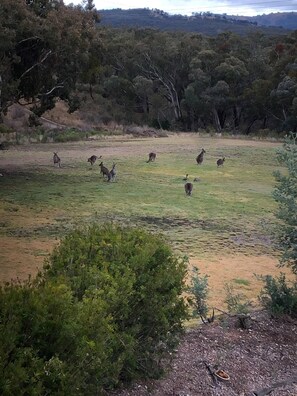
[{"label": "strip of pale cloudy sky above the distant hills", "polygon": [[[81,4],[83,0],[64,0],[65,4]],[[210,11],[229,15],[262,15],[271,12],[297,12],[297,0],[93,0],[97,10],[112,8],[157,8],[169,14],[191,15]]]}]

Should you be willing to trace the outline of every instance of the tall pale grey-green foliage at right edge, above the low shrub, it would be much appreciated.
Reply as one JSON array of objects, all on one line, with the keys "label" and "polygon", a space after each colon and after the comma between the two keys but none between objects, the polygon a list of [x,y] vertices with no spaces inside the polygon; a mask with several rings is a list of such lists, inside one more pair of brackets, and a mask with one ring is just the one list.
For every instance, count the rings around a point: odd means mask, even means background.
[{"label": "tall pale grey-green foliage at right edge, above the low shrub", "polygon": [[281,264],[289,266],[297,275],[297,135],[291,134],[278,153],[279,162],[287,173],[275,172],[277,181],[273,193],[278,203],[277,217],[282,221],[279,244],[282,250]]}]

